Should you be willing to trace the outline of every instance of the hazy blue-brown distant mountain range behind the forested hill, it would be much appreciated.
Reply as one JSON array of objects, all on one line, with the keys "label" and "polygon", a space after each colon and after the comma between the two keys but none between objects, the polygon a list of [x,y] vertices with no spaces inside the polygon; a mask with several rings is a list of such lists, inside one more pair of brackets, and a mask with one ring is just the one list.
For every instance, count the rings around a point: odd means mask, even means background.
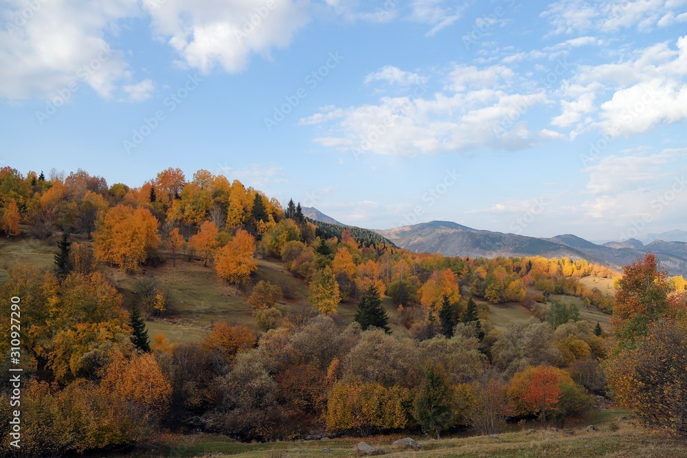
[{"label": "hazy blue-brown distant mountain range behind the forested hill", "polygon": [[[328,218],[324,222],[336,221],[317,209],[313,210],[319,218]],[[322,221],[312,216],[311,218]],[[567,256],[571,259],[585,259],[589,262],[620,267],[651,252],[657,255],[671,275],[687,276],[687,231],[651,234],[647,236],[651,239],[648,244],[636,239],[596,244],[572,234],[552,238],[519,236],[515,233],[473,229],[450,221],[423,222],[412,226],[376,230],[376,233],[403,249],[440,253],[445,256]],[[664,241],[666,239],[670,241]]]}]

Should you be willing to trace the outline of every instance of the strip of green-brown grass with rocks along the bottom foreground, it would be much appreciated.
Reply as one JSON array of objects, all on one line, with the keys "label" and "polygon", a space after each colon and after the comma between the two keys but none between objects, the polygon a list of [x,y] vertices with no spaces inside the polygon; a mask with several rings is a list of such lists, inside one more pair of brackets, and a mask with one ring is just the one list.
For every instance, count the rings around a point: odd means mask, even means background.
[{"label": "strip of green-brown grass with rocks along the bottom foreground", "polygon": [[[586,431],[589,424],[598,431]],[[403,435],[374,437],[343,437],[327,441],[272,442],[264,444],[242,444],[216,435],[162,435],[159,444],[150,450],[139,450],[131,455],[117,457],[357,457],[354,447],[365,441],[379,453],[398,458],[405,457],[608,457],[608,458],[679,458],[687,456],[687,442],[662,439],[645,434],[641,428],[628,420],[622,411],[594,411],[577,419],[568,426],[573,434],[552,431],[539,422],[508,425],[511,431],[497,437],[475,436],[473,433],[459,433],[440,440],[413,435],[422,447],[417,452],[401,451],[392,446]],[[526,431],[534,429],[534,433]],[[325,449],[328,449],[326,451]],[[114,455],[112,455],[114,456]]]}]

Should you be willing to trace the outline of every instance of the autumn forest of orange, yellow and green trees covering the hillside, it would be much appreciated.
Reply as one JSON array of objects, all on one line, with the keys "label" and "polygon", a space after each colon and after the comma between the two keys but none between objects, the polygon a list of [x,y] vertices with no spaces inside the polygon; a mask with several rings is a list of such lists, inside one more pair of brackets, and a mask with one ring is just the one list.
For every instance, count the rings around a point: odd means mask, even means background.
[{"label": "autumn forest of orange, yellow and green trees covering the hillside", "polygon": [[[521,420],[565,430],[600,402],[655,435],[687,436],[686,282],[651,254],[613,271],[413,253],[174,168],[129,187],[3,167],[0,229],[2,250],[54,253],[49,265],[0,259],[0,367],[14,367],[8,323],[21,304],[23,369],[21,406],[0,378],[6,456],[135,449],[164,433],[440,438]],[[212,277],[249,320],[227,312],[185,341],[149,334],[194,313],[156,277],[170,266]],[[497,323],[499,310],[526,319]],[[16,409],[21,449],[4,440]]]}]

